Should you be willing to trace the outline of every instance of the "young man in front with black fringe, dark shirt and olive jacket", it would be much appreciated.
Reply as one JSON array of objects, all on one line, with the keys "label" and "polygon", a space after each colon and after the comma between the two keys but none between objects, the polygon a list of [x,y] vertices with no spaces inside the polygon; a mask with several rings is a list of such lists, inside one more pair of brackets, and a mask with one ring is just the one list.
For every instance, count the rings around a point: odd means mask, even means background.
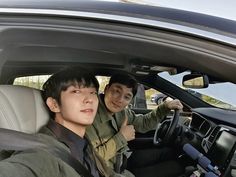
[{"label": "young man in front with black fringe, dark shirt and olive jacket", "polygon": [[52,75],[43,93],[53,119],[33,135],[47,146],[16,151],[0,161],[0,177],[87,177],[51,153],[56,150],[82,164],[89,176],[112,176],[84,139],[85,129],[97,112],[98,87],[96,78],[81,68]]}]

